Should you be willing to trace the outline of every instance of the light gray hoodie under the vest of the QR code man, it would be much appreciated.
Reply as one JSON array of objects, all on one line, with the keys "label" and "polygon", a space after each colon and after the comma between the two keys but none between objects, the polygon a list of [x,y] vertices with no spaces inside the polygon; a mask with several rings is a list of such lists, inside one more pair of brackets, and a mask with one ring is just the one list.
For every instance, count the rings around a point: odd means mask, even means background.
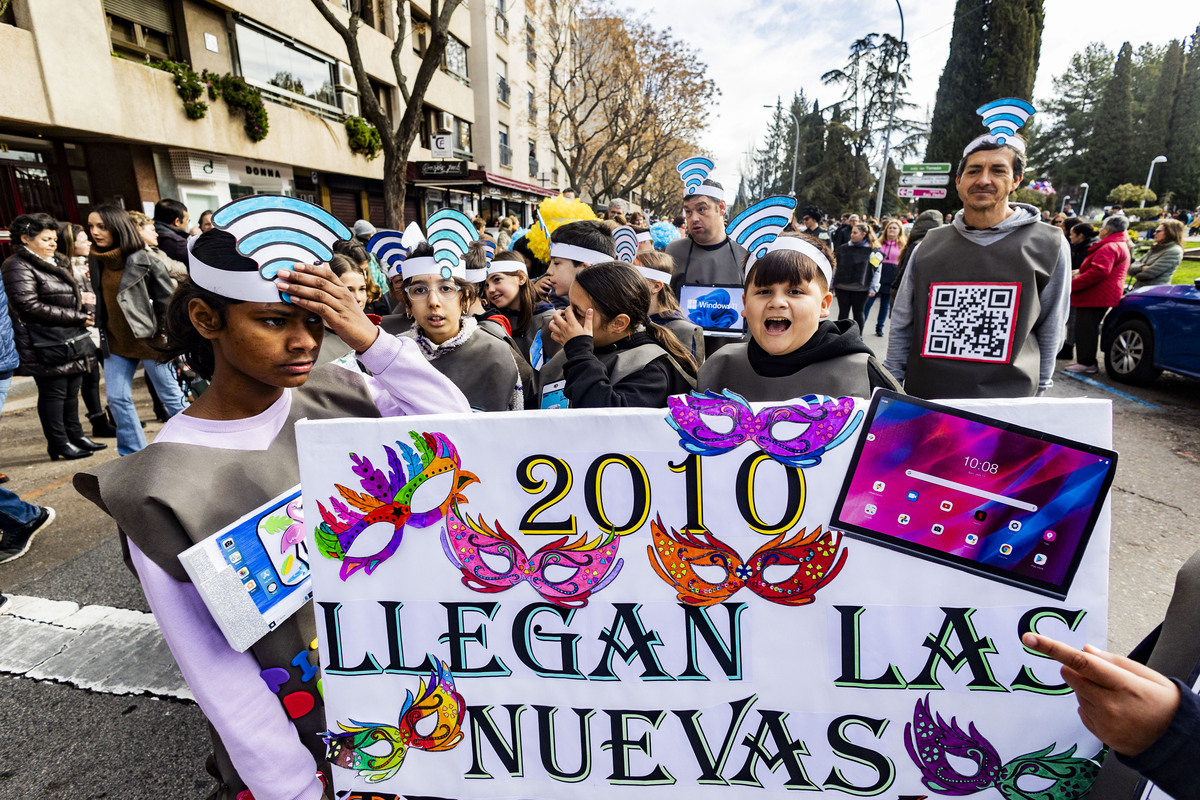
[{"label": "light gray hoodie under the vest of the QR code man", "polygon": [[[1013,213],[995,228],[984,230],[968,228],[962,218],[962,211],[954,215],[952,224],[967,241],[980,247],[994,245],[1025,225],[1040,224],[1040,212],[1032,205],[1024,203],[1010,203],[1009,205]],[[904,380],[907,372],[908,353],[912,348],[913,308],[917,301],[913,297],[912,276],[919,258],[920,245],[912,251],[908,258],[908,269],[905,270],[904,277],[900,279],[900,288],[896,290],[895,303],[892,308],[892,327],[888,332],[888,355],[883,362],[884,368],[900,381]],[[970,279],[968,264],[964,265],[962,277]],[[1031,335],[1036,337],[1042,356],[1038,371],[1038,395],[1042,395],[1054,385],[1055,356],[1062,345],[1070,303],[1070,245],[1066,236],[1062,239],[1058,261],[1051,270],[1051,278],[1039,293],[1038,299],[1040,313],[1033,323]]]}]

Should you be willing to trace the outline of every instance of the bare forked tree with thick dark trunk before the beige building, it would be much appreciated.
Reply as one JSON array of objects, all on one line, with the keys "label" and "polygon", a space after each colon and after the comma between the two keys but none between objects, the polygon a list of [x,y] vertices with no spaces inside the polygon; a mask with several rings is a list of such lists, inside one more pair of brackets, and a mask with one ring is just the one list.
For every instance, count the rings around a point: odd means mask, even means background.
[{"label": "bare forked tree with thick dark trunk before the beige building", "polygon": [[445,53],[450,37],[450,18],[461,2],[462,0],[430,0],[428,44],[421,55],[416,76],[409,83],[401,60],[404,42],[408,40],[408,14],[404,0],[394,0],[396,38],[391,48],[391,66],[396,73],[396,85],[400,86],[404,113],[396,128],[392,130],[388,113],[371,90],[371,79],[367,77],[366,67],[362,64],[362,52],[359,49],[362,0],[350,0],[348,22],[343,22],[343,14],[335,11],[328,0],[312,0],[312,5],[325,18],[325,22],[346,42],[347,60],[354,70],[354,79],[359,85],[359,108],[362,118],[379,131],[379,143],[383,149],[384,221],[389,228],[400,229],[404,225],[408,154],[421,130],[425,92],[430,88],[434,73],[442,66],[442,55]]}]

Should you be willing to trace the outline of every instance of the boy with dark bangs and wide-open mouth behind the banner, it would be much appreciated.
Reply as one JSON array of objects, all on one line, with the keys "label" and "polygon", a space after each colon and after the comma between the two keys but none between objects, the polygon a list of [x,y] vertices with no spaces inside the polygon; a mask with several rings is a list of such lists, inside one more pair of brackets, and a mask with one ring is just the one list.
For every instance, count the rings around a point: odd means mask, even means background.
[{"label": "boy with dark bangs and wide-open mouth behind the banner", "polygon": [[784,234],[746,260],[748,342],[709,355],[697,391],[731,390],[748,401],[805,395],[869,397],[899,384],[863,343],[853,320],[830,320],[833,252],[815,236]]}]

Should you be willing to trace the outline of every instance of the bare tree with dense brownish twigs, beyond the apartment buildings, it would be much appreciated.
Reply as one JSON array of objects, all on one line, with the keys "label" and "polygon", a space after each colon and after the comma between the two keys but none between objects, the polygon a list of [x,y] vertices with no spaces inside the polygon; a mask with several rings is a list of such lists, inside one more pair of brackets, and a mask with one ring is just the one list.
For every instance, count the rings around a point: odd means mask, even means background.
[{"label": "bare tree with dense brownish twigs, beyond the apartment buildings", "polygon": [[602,0],[559,4],[545,26],[547,130],[572,186],[629,194],[690,155],[720,94],[695,50]]}]

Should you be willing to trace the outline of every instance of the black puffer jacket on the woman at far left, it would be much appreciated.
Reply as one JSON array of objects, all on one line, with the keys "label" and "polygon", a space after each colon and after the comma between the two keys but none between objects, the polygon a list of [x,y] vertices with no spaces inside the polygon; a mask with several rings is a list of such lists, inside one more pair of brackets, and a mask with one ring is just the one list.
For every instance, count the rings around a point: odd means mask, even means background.
[{"label": "black puffer jacket on the woman at far left", "polygon": [[91,372],[96,365],[95,356],[47,366],[40,357],[40,349],[34,347],[36,333],[32,329],[36,327],[60,341],[88,335],[84,327],[88,313],[83,311],[79,285],[66,260],[56,255],[49,263],[17,245],[0,270],[4,271],[8,295],[13,341],[20,355],[20,374],[50,378]]}]

